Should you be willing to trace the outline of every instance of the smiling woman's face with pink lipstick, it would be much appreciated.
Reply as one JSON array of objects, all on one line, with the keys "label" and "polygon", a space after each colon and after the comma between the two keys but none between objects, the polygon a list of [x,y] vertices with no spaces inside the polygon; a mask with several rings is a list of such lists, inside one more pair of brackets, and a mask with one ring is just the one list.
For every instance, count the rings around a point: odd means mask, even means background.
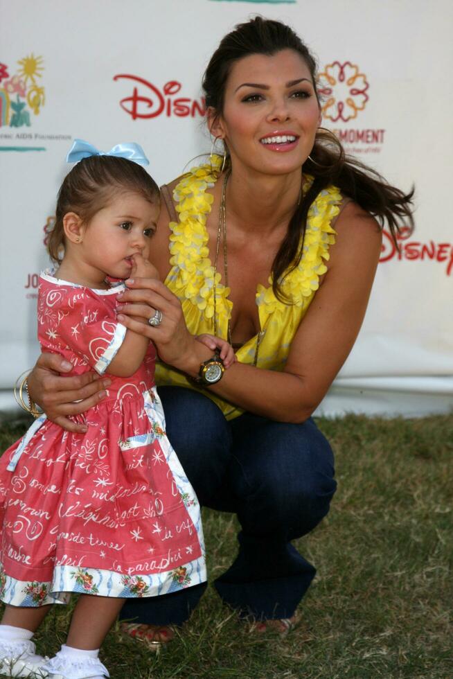
[{"label": "smiling woman's face with pink lipstick", "polygon": [[301,167],[320,123],[310,70],[297,52],[285,49],[233,65],[211,132],[227,143],[233,168],[240,163],[281,175]]}]

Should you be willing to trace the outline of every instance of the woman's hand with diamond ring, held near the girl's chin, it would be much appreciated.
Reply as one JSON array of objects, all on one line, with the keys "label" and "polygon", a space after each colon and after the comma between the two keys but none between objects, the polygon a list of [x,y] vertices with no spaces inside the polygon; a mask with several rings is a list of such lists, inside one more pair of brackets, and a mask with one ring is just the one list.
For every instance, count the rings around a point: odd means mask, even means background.
[{"label": "woman's hand with diamond ring, held near the girl's chin", "polygon": [[[126,285],[129,290],[118,294],[118,321],[149,337],[163,362],[197,375],[200,363],[209,356],[202,343],[190,335],[179,299],[157,279],[128,279]],[[156,310],[161,311],[162,321],[153,327],[148,320]]]}]

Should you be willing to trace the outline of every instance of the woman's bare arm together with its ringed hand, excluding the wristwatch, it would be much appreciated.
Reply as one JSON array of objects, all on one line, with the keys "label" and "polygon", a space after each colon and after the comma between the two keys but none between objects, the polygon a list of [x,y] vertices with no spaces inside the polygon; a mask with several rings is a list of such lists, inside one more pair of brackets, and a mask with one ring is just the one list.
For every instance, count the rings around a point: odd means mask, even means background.
[{"label": "woman's bare arm together with its ringed hand, excluding the wristwatch", "polygon": [[[235,363],[217,385],[208,387],[213,393],[278,421],[302,422],[319,405],[359,333],[382,238],[377,222],[353,203],[341,212],[335,229],[329,270],[297,330],[284,371]],[[145,316],[150,308],[159,308],[165,322],[145,328],[145,334],[157,345],[161,360],[196,376],[211,353],[188,333],[177,298],[159,281],[137,280],[131,287],[122,296],[126,303],[121,311]],[[123,314],[121,322],[141,331]]]}]

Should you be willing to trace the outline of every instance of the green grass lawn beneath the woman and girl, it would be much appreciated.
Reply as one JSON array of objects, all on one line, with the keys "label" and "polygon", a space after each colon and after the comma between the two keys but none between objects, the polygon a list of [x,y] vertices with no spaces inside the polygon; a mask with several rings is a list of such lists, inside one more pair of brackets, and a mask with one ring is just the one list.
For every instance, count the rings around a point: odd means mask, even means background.
[{"label": "green grass lawn beneath the woman and girl", "polygon": [[[330,514],[297,542],[317,566],[283,641],[258,635],[212,588],[159,655],[118,628],[101,658],[112,679],[452,679],[453,414],[418,420],[321,419],[339,488]],[[1,450],[24,430],[3,425]],[[211,577],[236,553],[236,520],[204,511]],[[40,652],[64,642],[71,607],[51,612]]]}]

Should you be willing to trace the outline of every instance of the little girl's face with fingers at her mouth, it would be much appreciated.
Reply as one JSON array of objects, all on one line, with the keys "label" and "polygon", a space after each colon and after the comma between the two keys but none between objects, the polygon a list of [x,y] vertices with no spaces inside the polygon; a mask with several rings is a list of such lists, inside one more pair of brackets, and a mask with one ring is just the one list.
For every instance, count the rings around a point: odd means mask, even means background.
[{"label": "little girl's face with fingers at her mouth", "polygon": [[118,195],[83,229],[85,262],[103,274],[126,279],[132,270],[132,255],[149,258],[158,218],[158,203],[149,203],[137,193]]}]

